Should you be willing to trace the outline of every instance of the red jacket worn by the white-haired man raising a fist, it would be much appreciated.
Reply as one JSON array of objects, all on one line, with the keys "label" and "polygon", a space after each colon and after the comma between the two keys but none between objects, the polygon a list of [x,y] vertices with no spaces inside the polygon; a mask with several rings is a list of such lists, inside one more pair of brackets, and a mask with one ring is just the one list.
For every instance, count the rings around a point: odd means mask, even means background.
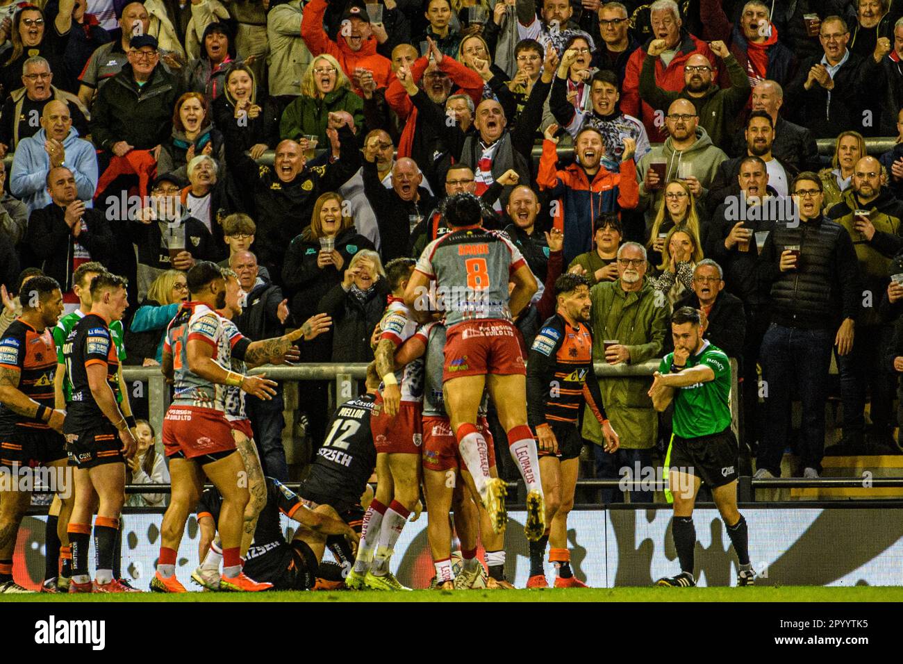
[{"label": "red jacket worn by the white-haired man raising a fist", "polygon": [[[621,87],[621,112],[637,117],[646,126],[646,133],[652,143],[662,143],[666,136],[656,126],[656,111],[639,97],[639,72],[646,59],[649,39],[642,47],[630,54],[627,69],[624,72],[624,84]],[[656,86],[663,90],[677,92],[684,89],[684,65],[694,53],[701,53],[712,63],[712,70],[718,71],[718,59],[708,44],[692,34],[681,33],[681,41],[677,43],[675,57],[666,67],[660,57],[656,58]]]}]

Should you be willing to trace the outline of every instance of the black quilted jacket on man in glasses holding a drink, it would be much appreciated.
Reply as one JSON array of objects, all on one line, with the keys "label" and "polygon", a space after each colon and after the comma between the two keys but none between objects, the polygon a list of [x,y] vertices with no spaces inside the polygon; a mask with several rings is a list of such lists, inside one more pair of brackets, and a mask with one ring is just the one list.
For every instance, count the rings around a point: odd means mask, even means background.
[{"label": "black quilted jacket on man in glasses holding a drink", "polygon": [[[781,272],[781,252],[798,245],[797,268]],[[860,313],[861,284],[850,234],[819,216],[791,228],[779,222],[759,257],[762,286],[771,295],[771,320],[786,327],[824,330]]]}]

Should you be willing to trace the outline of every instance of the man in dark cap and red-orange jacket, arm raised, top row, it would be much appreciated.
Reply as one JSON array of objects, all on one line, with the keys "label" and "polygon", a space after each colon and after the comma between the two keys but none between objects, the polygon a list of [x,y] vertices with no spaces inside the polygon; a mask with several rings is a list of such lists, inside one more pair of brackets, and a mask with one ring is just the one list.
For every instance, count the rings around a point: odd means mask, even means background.
[{"label": "man in dark cap and red-orange jacket, arm raised, top row", "polygon": [[377,39],[370,28],[370,20],[362,5],[349,5],[342,14],[339,41],[333,42],[323,30],[326,0],[311,0],[304,7],[301,37],[314,57],[327,53],[339,61],[345,75],[352,81],[358,95],[363,92],[355,81],[354,70],[368,70],[377,88],[388,85],[392,62],[377,53]]}]

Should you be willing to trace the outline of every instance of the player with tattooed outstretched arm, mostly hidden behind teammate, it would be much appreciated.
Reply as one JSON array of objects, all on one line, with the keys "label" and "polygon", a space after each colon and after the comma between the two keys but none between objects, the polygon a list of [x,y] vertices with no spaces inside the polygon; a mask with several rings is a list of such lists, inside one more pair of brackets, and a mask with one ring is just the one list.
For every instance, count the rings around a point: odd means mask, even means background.
[{"label": "player with tattooed outstretched arm, mostly hidden behind teammate", "polygon": [[[222,317],[223,334],[219,337],[218,354],[220,358],[229,358],[229,369],[238,374],[244,374],[247,369],[254,369],[257,365],[251,365],[245,360],[239,359],[237,353],[232,352],[232,348],[237,339],[243,338],[241,332],[238,332],[236,324],[232,319],[241,314],[241,304],[238,303],[238,294],[241,292],[241,286],[238,285],[238,276],[230,269],[223,269],[222,274],[226,279],[226,305],[217,310]],[[312,339],[329,329],[331,319],[325,313],[317,314],[305,323],[311,328],[310,334],[306,337]],[[282,360],[297,360],[300,357],[298,349],[292,346],[284,355],[275,358],[262,358],[257,364],[266,361],[281,362]],[[238,454],[241,455],[242,463],[247,473],[247,492],[249,499],[245,507],[244,524],[241,531],[241,551],[242,558],[247,559],[247,551],[251,546],[251,542],[255,539],[257,517],[266,505],[267,487],[264,478],[264,471],[260,465],[260,457],[257,454],[256,444],[254,443],[254,430],[251,428],[251,421],[247,417],[245,411],[245,393],[241,388],[228,385],[225,388],[224,407],[226,420],[232,429],[232,437],[235,440]],[[219,497],[219,493],[217,494]],[[219,515],[219,509],[217,510]],[[222,560],[222,547],[219,538],[210,544],[210,565],[207,567],[199,566],[191,573],[191,580],[208,590],[219,590],[219,561]],[[205,558],[201,556],[201,560]],[[216,566],[213,566],[213,563]]]}]

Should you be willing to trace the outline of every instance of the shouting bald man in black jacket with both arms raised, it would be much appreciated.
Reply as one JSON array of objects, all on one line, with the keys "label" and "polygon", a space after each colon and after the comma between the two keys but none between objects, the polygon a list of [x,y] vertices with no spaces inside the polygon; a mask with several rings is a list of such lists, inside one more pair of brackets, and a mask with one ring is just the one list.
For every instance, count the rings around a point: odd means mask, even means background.
[{"label": "shouting bald man in black jacket with both arms raised", "polygon": [[276,145],[272,168],[258,165],[235,142],[226,145],[226,162],[236,182],[254,192],[254,210],[248,212],[257,224],[257,262],[266,267],[275,283],[284,281],[288,286],[291,281],[291,288],[300,285],[297,275],[283,271],[286,249],[310,224],[320,194],[338,191],[358,170],[360,151],[347,121],[347,117],[330,113],[330,127],[339,136],[339,159],[321,166],[308,168],[301,146],[290,140]]}]

